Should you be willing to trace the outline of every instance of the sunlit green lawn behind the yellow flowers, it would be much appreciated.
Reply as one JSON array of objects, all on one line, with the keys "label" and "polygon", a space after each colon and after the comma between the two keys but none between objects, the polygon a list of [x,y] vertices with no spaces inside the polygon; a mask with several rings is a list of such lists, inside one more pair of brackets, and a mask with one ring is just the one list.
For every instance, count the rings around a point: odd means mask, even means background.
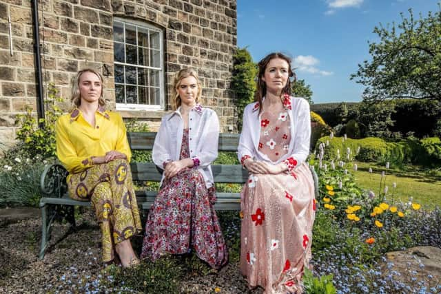
[{"label": "sunlit green lawn behind the yellow flowers", "polygon": [[[381,171],[385,171],[385,182],[389,187],[389,201],[407,202],[412,197],[413,202],[427,205],[428,208],[441,207],[441,172],[439,170],[415,166],[386,169],[372,163],[356,163],[358,171],[353,171],[353,173],[356,176],[356,182],[363,189],[372,190],[378,195]],[[372,174],[369,173],[369,167],[373,169]],[[395,189],[393,189],[393,182],[396,182]]]}]

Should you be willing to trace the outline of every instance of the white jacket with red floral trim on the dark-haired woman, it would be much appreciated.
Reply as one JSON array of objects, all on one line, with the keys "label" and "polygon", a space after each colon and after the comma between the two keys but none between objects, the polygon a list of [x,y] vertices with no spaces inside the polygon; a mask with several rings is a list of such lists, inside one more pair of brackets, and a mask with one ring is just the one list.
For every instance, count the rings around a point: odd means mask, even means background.
[{"label": "white jacket with red floral trim on the dark-haired woman", "polygon": [[[305,162],[309,154],[309,140],[311,138],[311,114],[309,103],[300,97],[287,96],[283,103],[287,109],[290,120],[291,142],[287,154],[273,162],[259,151],[260,140],[260,119],[258,102],[251,103],[245,107],[243,112],[243,128],[240,134],[238,146],[238,158],[242,162],[245,158],[263,160],[273,164],[285,161],[290,162],[289,170],[294,169]],[[268,109],[264,109],[268,111]]]}]

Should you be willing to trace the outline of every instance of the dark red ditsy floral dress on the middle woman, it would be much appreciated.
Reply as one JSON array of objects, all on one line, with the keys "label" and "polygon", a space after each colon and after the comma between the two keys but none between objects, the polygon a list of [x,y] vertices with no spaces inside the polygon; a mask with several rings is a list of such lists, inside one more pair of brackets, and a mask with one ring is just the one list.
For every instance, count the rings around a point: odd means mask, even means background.
[{"label": "dark red ditsy floral dress on the middle woman", "polygon": [[[184,129],[181,157],[189,158],[188,129]],[[207,189],[198,169],[183,169],[164,180],[145,224],[141,258],[156,260],[165,253],[194,249],[215,269],[227,262],[227,246],[214,211],[214,187]]]}]

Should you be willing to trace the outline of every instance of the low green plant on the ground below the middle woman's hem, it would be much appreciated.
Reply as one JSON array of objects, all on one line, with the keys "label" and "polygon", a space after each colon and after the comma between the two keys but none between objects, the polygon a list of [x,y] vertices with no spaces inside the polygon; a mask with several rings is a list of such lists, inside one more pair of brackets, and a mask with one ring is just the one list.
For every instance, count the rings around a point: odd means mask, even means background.
[{"label": "low green plant on the ground below the middle woman's hem", "polygon": [[[183,269],[175,258],[163,257],[156,262],[141,262],[130,269],[107,266],[103,275],[101,283],[105,288],[127,287],[143,293],[178,293]],[[108,276],[113,279],[105,278]]]}]

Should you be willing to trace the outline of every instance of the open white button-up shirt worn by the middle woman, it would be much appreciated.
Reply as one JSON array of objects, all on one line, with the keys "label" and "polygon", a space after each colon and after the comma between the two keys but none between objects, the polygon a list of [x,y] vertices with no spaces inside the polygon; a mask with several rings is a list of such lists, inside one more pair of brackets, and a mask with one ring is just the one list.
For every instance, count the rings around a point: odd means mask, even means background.
[{"label": "open white button-up shirt worn by the middle woman", "polygon": [[[201,172],[207,188],[214,185],[211,163],[218,157],[219,120],[214,110],[196,104],[188,116],[190,158],[199,160],[197,168]],[[164,163],[179,160],[183,137],[181,107],[166,114],[161,120],[154,140],[152,159],[155,165],[164,169]],[[164,180],[161,180],[161,185]]]}]

